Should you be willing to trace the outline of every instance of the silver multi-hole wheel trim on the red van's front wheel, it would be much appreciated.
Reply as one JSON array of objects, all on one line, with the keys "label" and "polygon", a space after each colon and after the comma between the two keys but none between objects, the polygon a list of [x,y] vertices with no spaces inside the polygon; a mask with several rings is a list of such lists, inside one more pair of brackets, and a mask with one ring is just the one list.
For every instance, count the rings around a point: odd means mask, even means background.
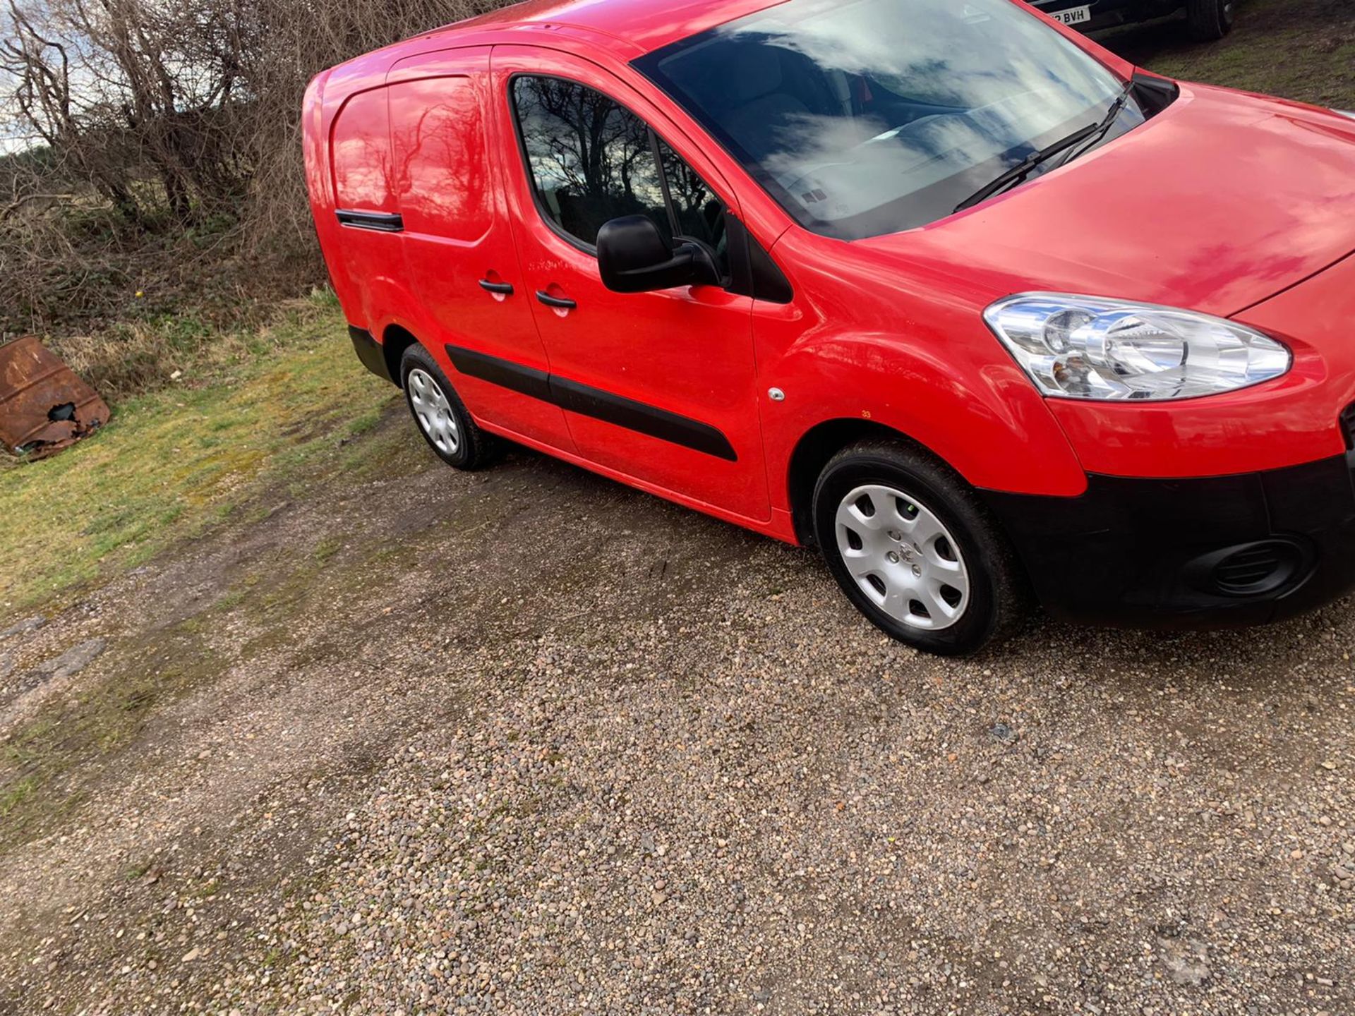
[{"label": "silver multi-hole wheel trim on the red van's front wheel", "polygon": [[837,505],[837,553],[858,588],[908,627],[943,631],[969,610],[969,569],[955,538],[912,494],[867,484]]}]

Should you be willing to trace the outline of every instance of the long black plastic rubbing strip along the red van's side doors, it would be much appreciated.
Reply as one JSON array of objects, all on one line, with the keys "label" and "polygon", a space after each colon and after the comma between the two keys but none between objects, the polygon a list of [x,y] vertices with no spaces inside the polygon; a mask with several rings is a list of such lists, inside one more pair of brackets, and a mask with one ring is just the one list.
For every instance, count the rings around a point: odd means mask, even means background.
[{"label": "long black plastic rubbing strip along the red van's side doors", "polygon": [[444,348],[451,359],[451,366],[469,377],[520,391],[545,402],[553,402],[570,413],[589,416],[729,462],[738,461],[738,454],[729,439],[710,424],[603,389],[581,385],[577,381],[558,378],[534,367],[524,367],[499,356],[489,356],[459,345]]}]

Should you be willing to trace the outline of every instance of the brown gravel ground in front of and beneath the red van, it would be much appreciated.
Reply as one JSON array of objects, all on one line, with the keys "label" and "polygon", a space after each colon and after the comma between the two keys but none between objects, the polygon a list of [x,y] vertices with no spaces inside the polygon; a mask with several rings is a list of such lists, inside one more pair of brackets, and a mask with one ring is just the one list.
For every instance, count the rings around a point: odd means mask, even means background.
[{"label": "brown gravel ground in front of and beneath the red van", "polygon": [[1348,601],[939,661],[805,551],[363,440],[0,637],[0,749],[69,763],[0,1012],[1355,1012]]}]

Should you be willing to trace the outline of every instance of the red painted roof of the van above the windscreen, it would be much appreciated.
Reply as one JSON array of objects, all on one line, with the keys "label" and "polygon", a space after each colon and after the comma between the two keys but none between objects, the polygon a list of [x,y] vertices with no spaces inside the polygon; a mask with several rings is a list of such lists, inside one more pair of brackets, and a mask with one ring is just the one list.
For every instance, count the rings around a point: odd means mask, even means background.
[{"label": "red painted roof of the van above the windscreen", "polygon": [[638,47],[641,53],[649,53],[782,3],[785,0],[527,0],[449,24],[435,34],[572,27],[610,35]]}]

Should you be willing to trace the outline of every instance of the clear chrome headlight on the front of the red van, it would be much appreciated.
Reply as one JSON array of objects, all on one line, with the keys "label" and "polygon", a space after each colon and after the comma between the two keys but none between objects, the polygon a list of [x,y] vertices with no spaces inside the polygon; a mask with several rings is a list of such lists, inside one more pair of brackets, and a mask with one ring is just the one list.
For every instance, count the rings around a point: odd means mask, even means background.
[{"label": "clear chrome headlight on the front of the red van", "polygon": [[1270,336],[1194,310],[1062,293],[1008,297],[984,320],[1041,393],[1163,401],[1233,391],[1293,363]]}]

